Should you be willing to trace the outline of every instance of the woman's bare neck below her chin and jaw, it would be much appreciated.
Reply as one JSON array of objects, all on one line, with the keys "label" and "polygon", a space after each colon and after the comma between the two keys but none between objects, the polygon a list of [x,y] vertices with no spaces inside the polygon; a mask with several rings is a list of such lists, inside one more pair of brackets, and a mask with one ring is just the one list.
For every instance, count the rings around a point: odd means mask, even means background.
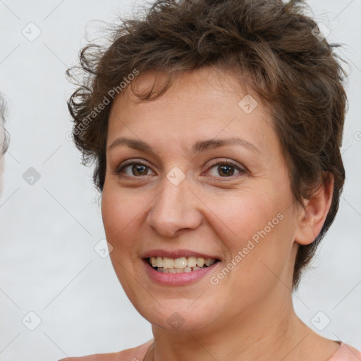
[{"label": "woman's bare neck below her chin and jaw", "polygon": [[155,343],[149,360],[301,360],[296,346],[311,330],[295,314],[290,291],[282,287],[283,298],[275,293],[274,298],[201,330],[169,331],[153,325]]}]

